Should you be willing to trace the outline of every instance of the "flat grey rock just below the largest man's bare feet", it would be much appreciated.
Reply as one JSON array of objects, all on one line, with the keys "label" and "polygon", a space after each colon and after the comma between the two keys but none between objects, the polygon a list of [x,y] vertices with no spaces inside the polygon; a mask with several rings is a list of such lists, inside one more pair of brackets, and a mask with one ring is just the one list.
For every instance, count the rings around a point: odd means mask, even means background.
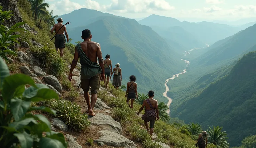
[{"label": "flat grey rock just below the largest man's bare feet", "polygon": [[[93,117],[88,117],[88,120],[91,122],[91,124],[94,125],[101,125],[106,130],[110,130],[112,132],[116,132],[118,134],[122,133],[122,126],[119,122],[115,121],[111,116],[97,113]],[[100,142],[100,141],[99,141]],[[105,142],[104,142],[105,143]],[[106,144],[106,143],[105,143]]]}]

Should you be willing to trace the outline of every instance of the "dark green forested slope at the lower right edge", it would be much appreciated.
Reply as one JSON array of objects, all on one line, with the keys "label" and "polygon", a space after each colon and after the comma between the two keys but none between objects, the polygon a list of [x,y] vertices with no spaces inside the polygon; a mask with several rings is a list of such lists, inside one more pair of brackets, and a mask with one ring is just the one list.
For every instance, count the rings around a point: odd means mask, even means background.
[{"label": "dark green forested slope at the lower right edge", "polygon": [[[202,92],[187,96],[188,99],[171,110],[171,115],[185,122],[199,122],[204,128],[223,126],[231,146],[238,145],[242,138],[256,134],[255,67],[256,52],[250,52],[226,76]],[[220,76],[225,75],[223,69],[220,72]],[[199,81],[203,83],[203,77]]]}]

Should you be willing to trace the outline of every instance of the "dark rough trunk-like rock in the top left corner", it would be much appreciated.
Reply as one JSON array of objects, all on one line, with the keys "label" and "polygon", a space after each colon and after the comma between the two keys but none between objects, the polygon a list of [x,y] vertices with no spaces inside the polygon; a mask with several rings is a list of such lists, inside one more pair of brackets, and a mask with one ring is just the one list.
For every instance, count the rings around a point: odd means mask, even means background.
[{"label": "dark rough trunk-like rock in the top left corner", "polygon": [[19,13],[17,0],[0,0],[0,5],[3,6],[3,11],[11,10],[13,11],[13,17],[11,17],[11,20],[5,21],[3,25],[7,27],[11,27],[14,24],[18,22],[22,22],[21,14]]}]

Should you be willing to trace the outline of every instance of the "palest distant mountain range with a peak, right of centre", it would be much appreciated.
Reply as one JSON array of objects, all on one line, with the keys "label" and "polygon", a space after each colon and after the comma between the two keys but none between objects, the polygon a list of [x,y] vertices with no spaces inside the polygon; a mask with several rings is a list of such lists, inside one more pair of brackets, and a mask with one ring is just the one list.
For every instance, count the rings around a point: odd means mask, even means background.
[{"label": "palest distant mountain range with a peak, right of centre", "polygon": [[239,28],[232,27],[226,24],[217,24],[211,22],[180,22],[177,19],[165,16],[151,15],[139,21],[142,25],[158,26],[161,28],[169,28],[171,26],[180,26],[186,31],[196,36],[200,41],[207,44],[213,44],[214,42],[224,39],[228,36],[234,35]]}]

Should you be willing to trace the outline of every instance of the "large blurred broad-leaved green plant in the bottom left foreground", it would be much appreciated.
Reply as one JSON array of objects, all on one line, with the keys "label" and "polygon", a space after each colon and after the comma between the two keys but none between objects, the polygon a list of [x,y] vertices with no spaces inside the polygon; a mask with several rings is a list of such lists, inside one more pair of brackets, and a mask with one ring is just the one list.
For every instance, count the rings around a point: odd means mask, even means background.
[{"label": "large blurred broad-leaved green plant in the bottom left foreground", "polygon": [[[26,89],[25,85],[30,85]],[[0,57],[0,145],[4,148],[67,148],[63,134],[51,131],[48,119],[29,112],[42,110],[56,115],[48,107],[31,107],[31,102],[56,99],[58,94],[46,85],[35,84],[24,74],[9,74],[7,65]],[[43,136],[43,132],[46,132]]]}]

